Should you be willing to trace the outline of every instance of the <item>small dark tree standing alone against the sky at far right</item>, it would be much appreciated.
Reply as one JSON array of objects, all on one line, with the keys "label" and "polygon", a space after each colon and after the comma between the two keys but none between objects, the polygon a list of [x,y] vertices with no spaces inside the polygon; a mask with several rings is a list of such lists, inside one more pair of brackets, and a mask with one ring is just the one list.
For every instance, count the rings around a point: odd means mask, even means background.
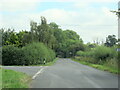
[{"label": "small dark tree standing alone against the sky at far right", "polygon": [[117,39],[115,35],[108,35],[108,37],[106,37],[106,43],[105,46],[107,47],[112,47],[117,43]]}]

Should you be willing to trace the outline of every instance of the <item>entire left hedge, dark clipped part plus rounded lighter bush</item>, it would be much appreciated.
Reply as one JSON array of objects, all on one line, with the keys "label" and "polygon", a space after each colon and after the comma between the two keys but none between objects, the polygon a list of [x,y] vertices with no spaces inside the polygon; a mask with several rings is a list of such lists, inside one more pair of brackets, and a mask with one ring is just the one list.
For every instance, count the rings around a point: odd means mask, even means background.
[{"label": "entire left hedge, dark clipped part plus rounded lighter bush", "polygon": [[32,43],[23,48],[4,46],[2,49],[3,65],[37,65],[50,62],[55,53],[43,43]]}]

